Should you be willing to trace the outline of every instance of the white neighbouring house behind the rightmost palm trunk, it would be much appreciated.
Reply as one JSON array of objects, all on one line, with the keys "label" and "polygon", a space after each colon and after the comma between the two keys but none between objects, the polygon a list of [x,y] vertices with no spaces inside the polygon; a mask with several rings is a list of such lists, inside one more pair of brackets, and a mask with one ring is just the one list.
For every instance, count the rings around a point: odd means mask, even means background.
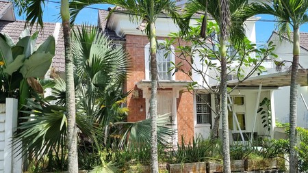
[{"label": "white neighbouring house behind the rightmost palm trunk", "polygon": [[[279,34],[274,31],[268,42],[272,41],[276,45],[274,53],[278,55],[278,61],[289,61],[285,63],[282,71],[290,70],[290,65],[293,59],[293,33],[291,38],[285,36],[279,37]],[[308,68],[308,33],[300,33],[300,66],[304,69]],[[268,73],[276,72],[275,68],[269,68]],[[308,88],[307,86],[298,87],[298,109],[297,109],[297,126],[308,128]],[[274,91],[274,107],[277,122],[289,122],[290,115],[290,87],[279,88]]]}]

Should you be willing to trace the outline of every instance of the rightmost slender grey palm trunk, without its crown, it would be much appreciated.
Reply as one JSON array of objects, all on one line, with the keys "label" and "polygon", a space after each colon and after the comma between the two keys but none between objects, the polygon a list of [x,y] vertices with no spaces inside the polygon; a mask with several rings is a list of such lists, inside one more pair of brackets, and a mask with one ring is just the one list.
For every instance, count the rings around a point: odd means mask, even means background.
[{"label": "rightmost slender grey palm trunk, without its crown", "polygon": [[297,97],[298,85],[296,82],[298,74],[299,53],[300,53],[300,35],[299,28],[294,28],[293,33],[293,63],[290,85],[290,172],[298,172],[298,161],[296,147],[296,116],[297,116]]}]

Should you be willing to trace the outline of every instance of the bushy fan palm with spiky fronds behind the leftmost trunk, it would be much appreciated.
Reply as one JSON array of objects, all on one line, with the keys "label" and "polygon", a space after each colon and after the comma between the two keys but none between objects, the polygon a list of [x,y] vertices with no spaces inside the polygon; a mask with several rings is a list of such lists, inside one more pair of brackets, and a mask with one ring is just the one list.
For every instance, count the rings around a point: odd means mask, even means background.
[{"label": "bushy fan palm with spiky fronds behind the leftmost trunk", "polygon": [[[119,101],[123,100],[122,84],[127,73],[127,54],[107,39],[97,27],[82,26],[74,30],[72,52],[75,64],[74,80],[78,114],[76,124],[79,133],[93,137],[93,124],[110,124],[120,113]],[[49,46],[52,49],[52,46]],[[54,50],[54,47],[53,47]],[[23,153],[31,152],[34,160],[44,159],[48,154],[57,153],[61,161],[60,168],[65,170],[67,128],[66,122],[66,83],[63,79],[55,80],[53,97],[29,99],[26,105],[31,121],[21,124],[21,133],[16,135],[24,145]],[[51,101],[55,105],[51,105]],[[116,111],[116,112],[115,112]],[[31,118],[32,117],[32,118]],[[62,154],[59,154],[62,153]],[[38,163],[40,163],[38,161]]]}]

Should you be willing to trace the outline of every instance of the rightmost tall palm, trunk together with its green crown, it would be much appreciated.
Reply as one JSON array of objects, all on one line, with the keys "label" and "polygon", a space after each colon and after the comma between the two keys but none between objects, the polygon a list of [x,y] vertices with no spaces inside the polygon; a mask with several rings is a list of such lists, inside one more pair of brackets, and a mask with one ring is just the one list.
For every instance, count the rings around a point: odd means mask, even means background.
[{"label": "rightmost tall palm, trunk together with its green crown", "polygon": [[296,147],[296,114],[298,83],[298,64],[300,57],[300,26],[308,22],[307,0],[274,0],[268,3],[252,3],[248,8],[250,16],[255,14],[271,14],[278,19],[278,29],[281,36],[287,34],[290,38],[290,25],[293,29],[293,61],[290,85],[290,172],[298,172]]}]

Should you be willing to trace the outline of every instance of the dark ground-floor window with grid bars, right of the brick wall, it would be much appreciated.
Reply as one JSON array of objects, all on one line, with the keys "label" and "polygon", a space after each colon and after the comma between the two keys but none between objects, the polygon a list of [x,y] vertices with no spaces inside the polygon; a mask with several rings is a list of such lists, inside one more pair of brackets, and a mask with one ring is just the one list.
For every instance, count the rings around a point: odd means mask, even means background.
[{"label": "dark ground-floor window with grid bars, right of the brick wall", "polygon": [[211,123],[210,94],[196,94],[196,123]]}]

